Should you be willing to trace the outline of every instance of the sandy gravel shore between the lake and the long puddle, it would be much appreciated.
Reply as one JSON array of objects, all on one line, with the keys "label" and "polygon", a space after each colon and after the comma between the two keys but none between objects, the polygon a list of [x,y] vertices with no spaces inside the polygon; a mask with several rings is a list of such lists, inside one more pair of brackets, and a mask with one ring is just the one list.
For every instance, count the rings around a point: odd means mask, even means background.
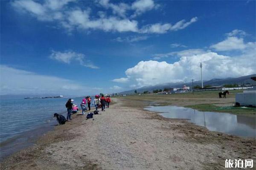
[{"label": "sandy gravel shore between the lake and the long puddle", "polygon": [[225,159],[256,161],[255,139],[127,106],[119,101],[94,120],[73,115],[76,119],[11,156],[1,169],[213,170],[225,169]]}]

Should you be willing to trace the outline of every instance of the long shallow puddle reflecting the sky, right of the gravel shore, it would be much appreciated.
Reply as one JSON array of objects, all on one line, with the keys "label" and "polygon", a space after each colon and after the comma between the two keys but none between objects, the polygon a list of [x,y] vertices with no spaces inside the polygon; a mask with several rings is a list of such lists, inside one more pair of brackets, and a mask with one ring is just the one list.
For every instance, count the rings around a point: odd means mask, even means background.
[{"label": "long shallow puddle reflecting the sky, right of the gravel shore", "polygon": [[189,119],[189,122],[207,127],[212,131],[237,136],[256,137],[256,119],[244,115],[230,113],[202,112],[191,108],[177,106],[150,106],[149,111],[163,112],[163,117],[172,119]]}]

